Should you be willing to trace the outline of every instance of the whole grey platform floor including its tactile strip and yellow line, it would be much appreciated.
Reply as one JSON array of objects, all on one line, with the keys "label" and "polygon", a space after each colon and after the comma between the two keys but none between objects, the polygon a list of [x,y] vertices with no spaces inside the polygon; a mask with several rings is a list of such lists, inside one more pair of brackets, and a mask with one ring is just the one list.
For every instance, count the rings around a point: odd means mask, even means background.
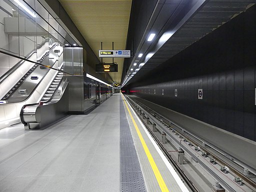
[{"label": "whole grey platform floor including its tactile strip and yellow line", "polygon": [[114,94],[44,130],[1,129],[0,191],[187,191],[128,108]]}]

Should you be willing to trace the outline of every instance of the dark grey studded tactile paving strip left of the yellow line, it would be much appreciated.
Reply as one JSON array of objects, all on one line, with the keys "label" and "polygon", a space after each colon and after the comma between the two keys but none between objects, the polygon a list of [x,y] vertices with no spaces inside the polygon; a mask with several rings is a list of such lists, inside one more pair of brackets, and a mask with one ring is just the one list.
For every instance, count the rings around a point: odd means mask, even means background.
[{"label": "dark grey studded tactile paving strip left of the yellow line", "polygon": [[145,183],[140,169],[126,113],[120,96],[120,184],[121,192],[144,192]]}]

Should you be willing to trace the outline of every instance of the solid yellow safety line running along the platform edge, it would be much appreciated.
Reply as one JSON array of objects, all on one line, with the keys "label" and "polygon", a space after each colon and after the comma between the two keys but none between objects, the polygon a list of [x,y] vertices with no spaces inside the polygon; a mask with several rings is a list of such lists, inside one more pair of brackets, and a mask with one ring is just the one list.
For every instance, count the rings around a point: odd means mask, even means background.
[{"label": "solid yellow safety line running along the platform edge", "polygon": [[140,131],[138,129],[138,126],[137,126],[133,116],[131,115],[131,112],[130,112],[130,110],[128,108],[128,105],[127,105],[126,101],[124,100],[123,95],[122,95],[122,98],[123,98],[124,104],[126,105],[126,108],[127,108],[128,112],[129,112],[129,115],[130,115],[130,118],[131,118],[131,120],[133,122],[133,125],[134,125],[134,127],[135,127],[135,129],[137,131],[138,137],[139,137],[140,142],[141,142],[141,144],[142,144],[142,146],[144,148],[144,151],[146,153],[148,161],[149,161],[149,163],[151,165],[151,168],[152,168],[152,170],[154,172],[154,176],[155,176],[155,178],[156,178],[156,180],[157,180],[157,182],[159,184],[159,187],[161,188],[161,191],[168,192],[169,190],[168,190],[168,188],[167,188],[167,186],[166,186],[166,184],[165,184],[165,182],[164,182],[164,180],[162,178],[161,173],[159,172],[159,170],[158,170],[158,168],[157,168],[157,166],[156,166],[156,164],[154,162],[154,159],[153,159],[149,149],[147,148],[147,145],[146,145],[146,143],[145,143],[145,141],[144,141],[144,139],[143,139],[143,137],[142,137],[142,135],[141,135],[141,133],[140,133]]}]

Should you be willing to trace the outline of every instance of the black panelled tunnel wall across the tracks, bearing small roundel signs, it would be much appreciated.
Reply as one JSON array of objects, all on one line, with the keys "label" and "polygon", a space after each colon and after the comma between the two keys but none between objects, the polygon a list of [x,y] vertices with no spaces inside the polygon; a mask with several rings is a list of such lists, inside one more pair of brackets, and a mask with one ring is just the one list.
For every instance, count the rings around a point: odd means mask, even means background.
[{"label": "black panelled tunnel wall across the tracks, bearing small roundel signs", "polygon": [[255,141],[255,18],[253,5],[130,84],[131,94]]}]

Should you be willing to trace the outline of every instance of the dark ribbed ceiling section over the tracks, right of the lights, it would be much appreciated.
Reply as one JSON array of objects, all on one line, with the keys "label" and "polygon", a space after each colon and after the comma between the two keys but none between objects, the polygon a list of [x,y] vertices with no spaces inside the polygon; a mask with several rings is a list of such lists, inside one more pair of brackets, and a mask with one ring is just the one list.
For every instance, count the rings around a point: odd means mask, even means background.
[{"label": "dark ribbed ceiling section over the tracks, right of the lights", "polygon": [[[178,5],[178,2],[180,2],[180,0],[166,0],[162,10],[165,10],[167,7],[173,9],[173,7]],[[182,2],[188,2],[188,0],[184,0]],[[195,1],[193,1],[193,3],[194,2]],[[161,1],[161,3],[163,3],[163,1]],[[193,16],[190,17],[183,24],[183,26],[177,30],[157,50],[157,52],[153,54],[153,56],[151,56],[149,60],[146,61],[146,63],[137,71],[136,74],[134,74],[134,76],[128,81],[127,84],[135,82],[141,78],[141,76],[145,75],[149,70],[153,70],[159,64],[168,60],[173,55],[177,54],[223,23],[229,21],[235,15],[245,11],[246,8],[253,4],[255,4],[255,0],[207,0],[207,2],[204,3],[202,7],[200,7],[200,10],[197,10],[197,12],[193,14]],[[184,3],[182,6],[185,8],[187,4]],[[159,15],[161,14],[164,13],[160,12]],[[174,11],[173,14],[178,15],[180,12]],[[175,17],[175,19],[177,19],[177,17]],[[175,21],[175,19],[169,19],[169,21]],[[163,21],[160,21],[160,19],[156,20],[161,24],[163,23]],[[177,20],[175,22],[177,22]],[[159,24],[159,26],[161,24]],[[164,27],[166,28],[166,26]],[[151,47],[153,46],[156,45],[151,45]],[[148,52],[149,51],[150,47],[148,48]]]}]

